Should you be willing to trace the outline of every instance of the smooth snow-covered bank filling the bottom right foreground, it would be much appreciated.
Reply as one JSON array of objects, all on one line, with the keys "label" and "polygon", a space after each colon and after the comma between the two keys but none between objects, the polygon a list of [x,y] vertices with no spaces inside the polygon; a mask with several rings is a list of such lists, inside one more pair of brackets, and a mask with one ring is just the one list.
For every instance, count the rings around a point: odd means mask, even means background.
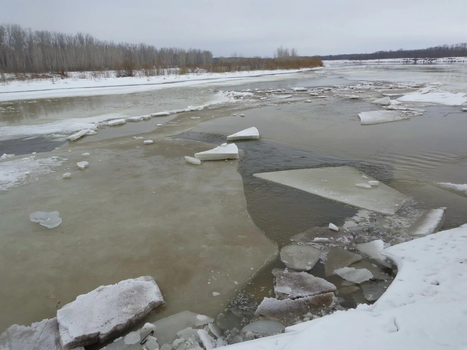
[{"label": "smooth snow-covered bank filling the bottom right foreground", "polygon": [[310,344],[346,350],[466,349],[467,225],[382,253],[395,262],[398,273],[375,304],[337,311],[227,349],[297,350]]}]

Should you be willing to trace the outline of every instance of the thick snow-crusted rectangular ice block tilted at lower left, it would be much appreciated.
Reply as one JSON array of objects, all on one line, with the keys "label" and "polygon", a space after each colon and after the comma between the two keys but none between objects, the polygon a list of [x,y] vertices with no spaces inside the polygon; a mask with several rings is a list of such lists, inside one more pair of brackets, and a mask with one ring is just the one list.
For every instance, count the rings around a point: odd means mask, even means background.
[{"label": "thick snow-crusted rectangular ice block tilted at lower left", "polygon": [[150,276],[100,286],[57,311],[60,341],[64,350],[102,343],[164,302]]}]

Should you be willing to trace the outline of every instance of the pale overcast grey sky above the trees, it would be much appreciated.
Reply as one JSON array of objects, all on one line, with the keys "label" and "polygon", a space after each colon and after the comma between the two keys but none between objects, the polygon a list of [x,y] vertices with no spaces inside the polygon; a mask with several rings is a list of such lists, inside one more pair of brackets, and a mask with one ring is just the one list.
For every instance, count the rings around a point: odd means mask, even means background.
[{"label": "pale overcast grey sky above the trees", "polygon": [[0,0],[0,23],[102,40],[272,56],[467,41],[467,0]]}]

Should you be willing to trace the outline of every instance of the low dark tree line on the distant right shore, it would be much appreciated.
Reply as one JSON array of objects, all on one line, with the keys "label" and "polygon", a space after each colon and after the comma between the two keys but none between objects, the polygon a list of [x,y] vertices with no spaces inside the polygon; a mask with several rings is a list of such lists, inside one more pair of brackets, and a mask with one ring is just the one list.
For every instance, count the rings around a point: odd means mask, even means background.
[{"label": "low dark tree line on the distant right shore", "polygon": [[317,56],[322,60],[372,60],[386,58],[441,58],[467,56],[467,43],[461,42],[453,45],[439,45],[427,49],[396,51],[377,51],[371,54],[345,54]]}]

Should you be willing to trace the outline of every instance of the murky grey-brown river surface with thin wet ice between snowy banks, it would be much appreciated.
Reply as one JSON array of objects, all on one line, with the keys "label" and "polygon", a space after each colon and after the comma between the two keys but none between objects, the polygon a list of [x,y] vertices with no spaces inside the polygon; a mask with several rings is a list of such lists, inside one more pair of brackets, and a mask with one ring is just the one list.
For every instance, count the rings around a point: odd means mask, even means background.
[{"label": "murky grey-brown river surface with thin wet ice between snowy banks", "polygon": [[[219,100],[219,90],[348,86],[362,80],[440,82],[443,89],[467,92],[467,66],[345,65],[251,83],[0,103],[0,154],[67,159],[35,182],[0,191],[0,329],[40,321],[53,315],[58,301],[63,305],[100,285],[142,275],[156,279],[167,304],[148,321],[184,310],[216,317],[239,295],[248,294],[245,304],[271,295],[270,271],[282,264],[277,249],[290,244],[291,236],[367,215],[255,173],[350,165],[375,177],[411,198],[372,237],[387,242],[403,236],[404,223],[426,209],[447,208],[443,229],[465,224],[467,198],[434,185],[466,182],[467,113],[458,106],[427,105],[421,116],[362,126],[357,114],[379,110],[369,101],[381,92],[365,91],[352,100],[326,92],[329,99],[312,103],[303,102],[307,93],[293,93],[290,103],[243,99],[106,127],[75,142],[57,136],[71,119],[201,105]],[[185,163],[184,155],[251,126],[261,140],[236,142],[242,150],[238,161]],[[44,134],[37,135],[38,129]],[[142,145],[135,135],[155,142]],[[81,155],[85,152],[90,156]],[[75,163],[83,160],[89,168],[77,169]],[[63,180],[67,171],[71,179]],[[30,222],[29,214],[38,210],[59,210],[63,223],[47,229]],[[312,272],[321,276],[321,270],[317,264]],[[361,300],[355,297],[348,306]]]}]

